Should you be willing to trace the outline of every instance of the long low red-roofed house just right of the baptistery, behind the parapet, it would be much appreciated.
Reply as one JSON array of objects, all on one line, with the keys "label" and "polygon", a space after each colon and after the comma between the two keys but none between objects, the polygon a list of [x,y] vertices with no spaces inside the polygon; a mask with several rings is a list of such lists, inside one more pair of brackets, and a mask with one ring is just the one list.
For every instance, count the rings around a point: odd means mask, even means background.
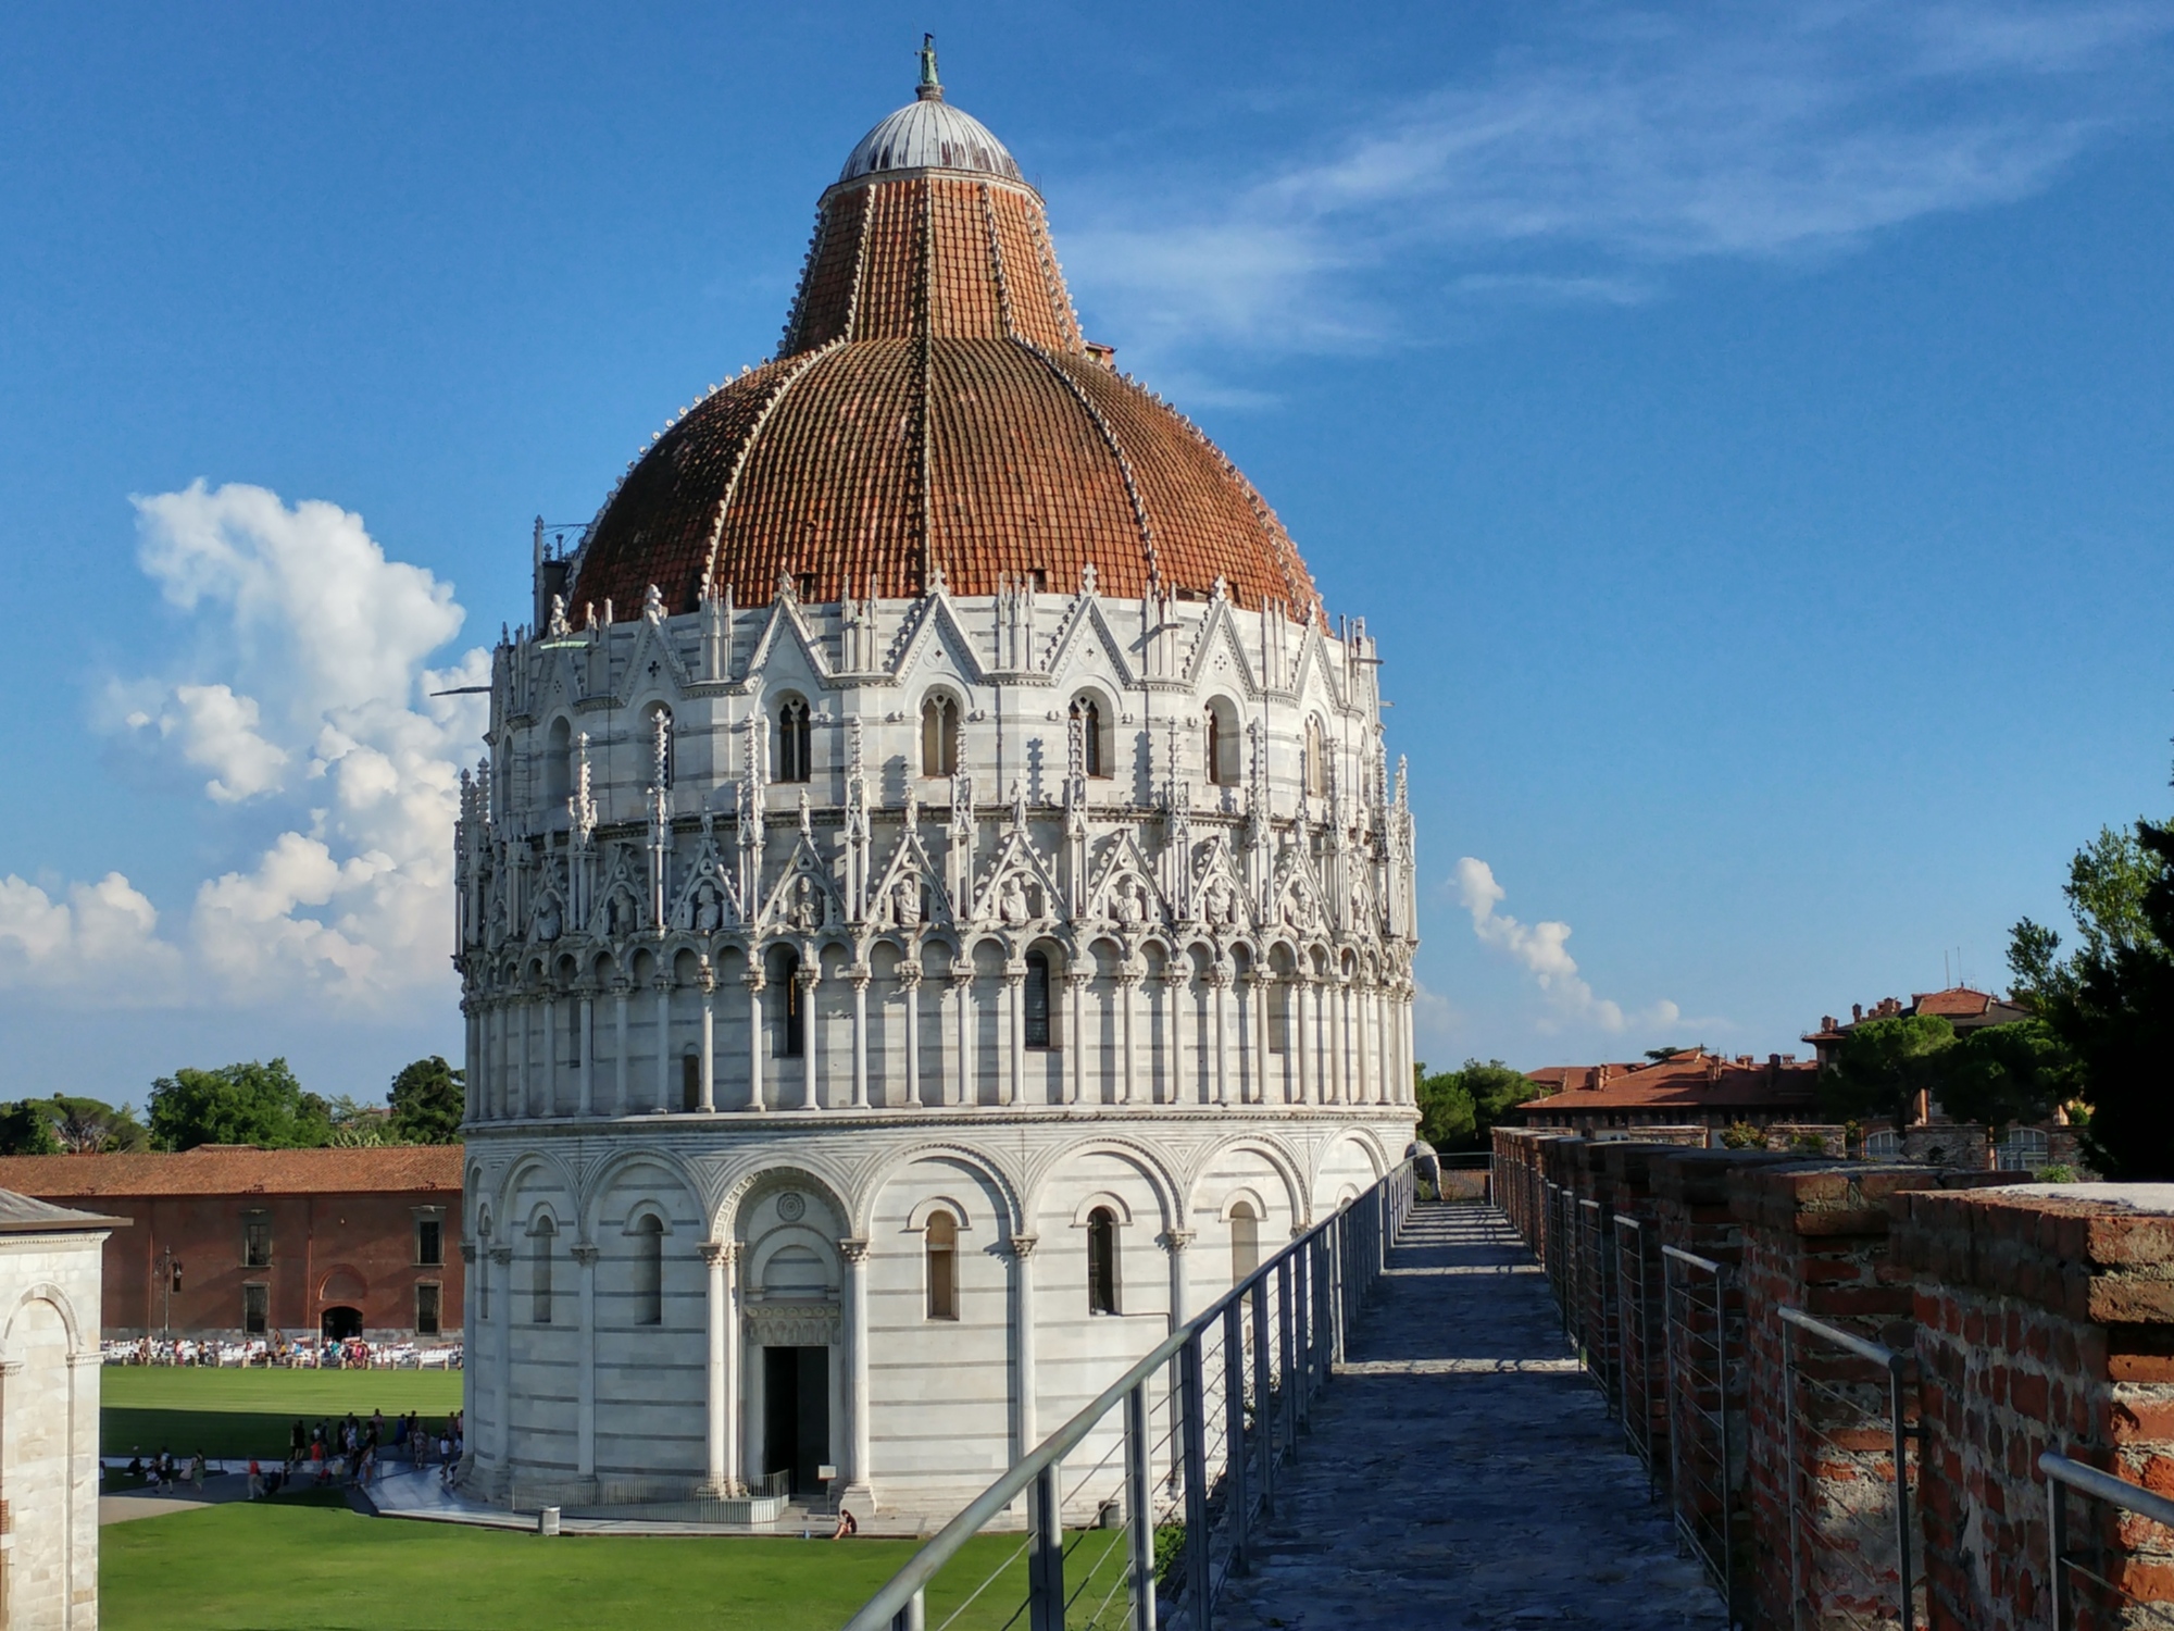
[{"label": "long low red-roofed house just right of the baptistery, behind the parapet", "polygon": [[1646,1066],[1550,1066],[1530,1081],[1561,1090],[1517,1105],[1526,1126],[1578,1133],[1637,1126],[1731,1126],[1815,1118],[1820,1068],[1796,1055],[1728,1059],[1685,1048]]}]

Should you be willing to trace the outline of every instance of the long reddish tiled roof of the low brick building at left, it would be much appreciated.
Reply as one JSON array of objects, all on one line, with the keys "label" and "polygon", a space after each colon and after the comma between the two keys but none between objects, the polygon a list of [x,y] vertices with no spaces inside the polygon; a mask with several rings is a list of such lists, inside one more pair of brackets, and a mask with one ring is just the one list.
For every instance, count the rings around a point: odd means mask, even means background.
[{"label": "long reddish tiled roof of the low brick building at left", "polygon": [[459,1144],[257,1150],[211,1144],[180,1155],[7,1155],[0,1190],[67,1196],[461,1192]]}]

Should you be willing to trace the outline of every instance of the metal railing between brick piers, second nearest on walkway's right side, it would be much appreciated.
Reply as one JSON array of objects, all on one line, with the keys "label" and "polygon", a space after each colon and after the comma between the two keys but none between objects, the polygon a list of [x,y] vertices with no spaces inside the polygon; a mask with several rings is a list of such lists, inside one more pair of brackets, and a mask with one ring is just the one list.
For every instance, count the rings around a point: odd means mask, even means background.
[{"label": "metal railing between brick piers, second nearest on walkway's right side", "polygon": [[[1917,1357],[1781,1309],[1789,1594],[1811,1624],[1924,1622]],[[1804,1451],[1811,1451],[1809,1466]],[[1807,1483],[1817,1472],[1817,1490]]]}]

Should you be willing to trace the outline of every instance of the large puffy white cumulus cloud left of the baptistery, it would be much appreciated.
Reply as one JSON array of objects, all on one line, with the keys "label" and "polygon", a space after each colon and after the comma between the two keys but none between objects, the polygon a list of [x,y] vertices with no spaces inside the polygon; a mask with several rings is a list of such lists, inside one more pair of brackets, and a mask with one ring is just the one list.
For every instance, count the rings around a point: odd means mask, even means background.
[{"label": "large puffy white cumulus cloud left of the baptistery", "polygon": [[[452,585],[387,559],[359,515],[263,487],[137,500],[139,561],[193,613],[170,678],[109,685],[128,739],[209,770],[207,813],[283,813],[241,868],[196,889],[187,929],[122,874],[65,902],[0,879],[0,987],[91,996],[133,970],[141,1000],[383,1000],[450,985],[459,765],[483,731],[489,655],[426,659],[461,631]],[[157,981],[141,979],[154,972]]]}]

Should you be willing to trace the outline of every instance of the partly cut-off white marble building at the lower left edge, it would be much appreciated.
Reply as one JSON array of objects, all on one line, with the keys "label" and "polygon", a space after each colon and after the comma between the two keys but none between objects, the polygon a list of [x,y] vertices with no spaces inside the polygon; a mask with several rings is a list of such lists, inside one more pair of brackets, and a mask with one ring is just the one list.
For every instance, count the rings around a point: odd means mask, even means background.
[{"label": "partly cut-off white marble building at the lower left edge", "polygon": [[113,1218],[0,1190],[0,1627],[98,1624],[98,1298]]}]

